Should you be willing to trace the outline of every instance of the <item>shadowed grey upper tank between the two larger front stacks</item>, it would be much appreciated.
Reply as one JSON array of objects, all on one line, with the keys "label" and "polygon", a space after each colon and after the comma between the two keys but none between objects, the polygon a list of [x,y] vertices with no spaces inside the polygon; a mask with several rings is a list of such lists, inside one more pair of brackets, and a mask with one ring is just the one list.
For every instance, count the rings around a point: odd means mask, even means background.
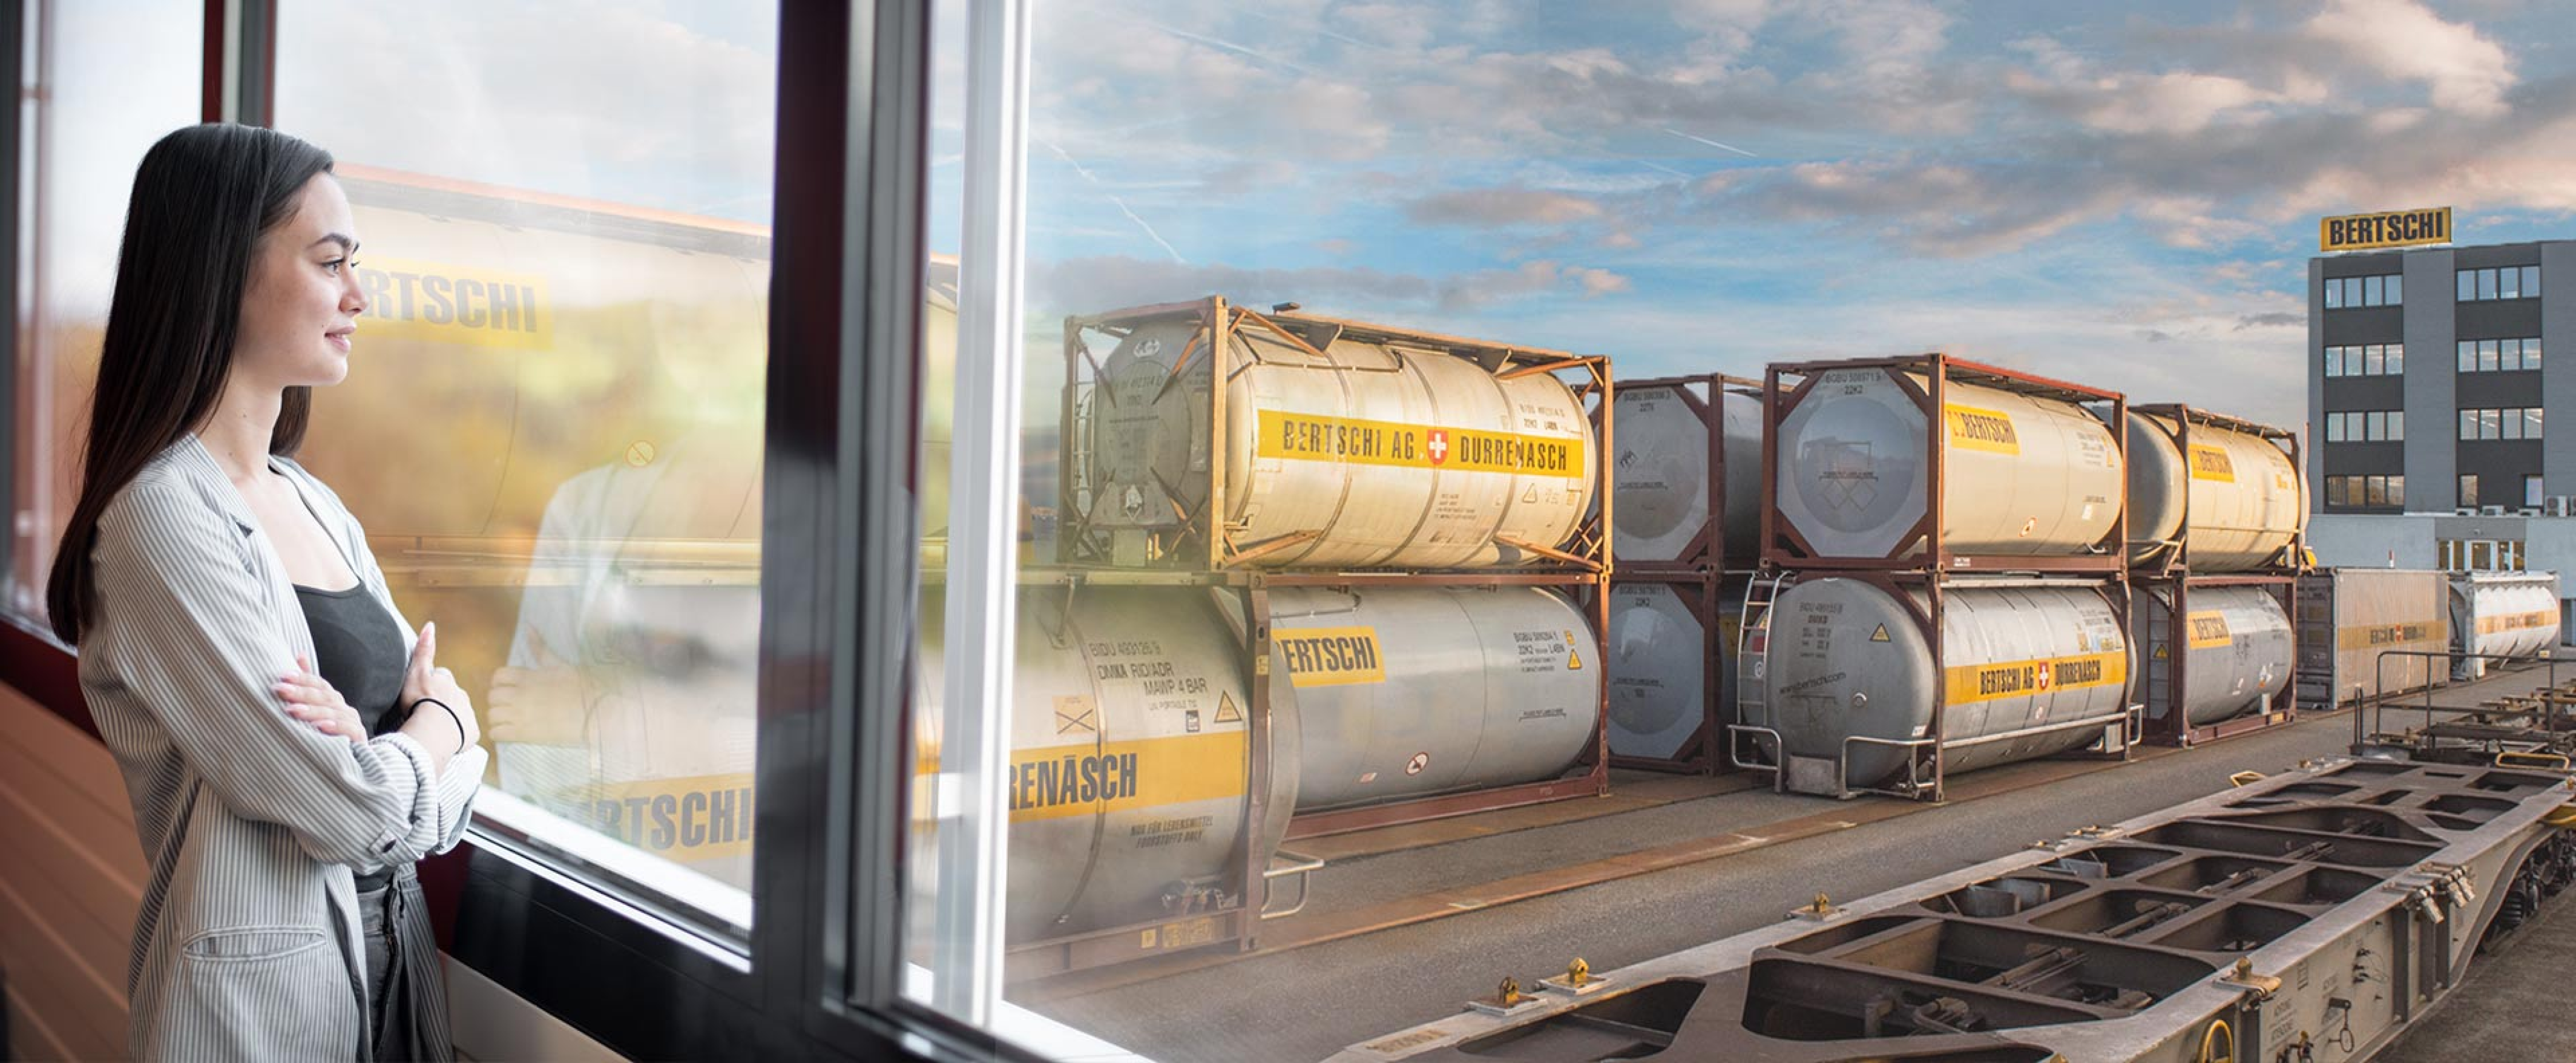
[{"label": "shadowed grey upper tank between the two larger front stacks", "polygon": [[[1698,395],[1685,395],[1685,387],[1623,387],[1613,402],[1618,513],[1610,547],[1620,562],[1680,560],[1710,524],[1708,418],[1692,405]],[[1752,555],[1762,534],[1762,400],[1721,387],[1710,402],[1726,462],[1716,524],[1728,552]]]}]

